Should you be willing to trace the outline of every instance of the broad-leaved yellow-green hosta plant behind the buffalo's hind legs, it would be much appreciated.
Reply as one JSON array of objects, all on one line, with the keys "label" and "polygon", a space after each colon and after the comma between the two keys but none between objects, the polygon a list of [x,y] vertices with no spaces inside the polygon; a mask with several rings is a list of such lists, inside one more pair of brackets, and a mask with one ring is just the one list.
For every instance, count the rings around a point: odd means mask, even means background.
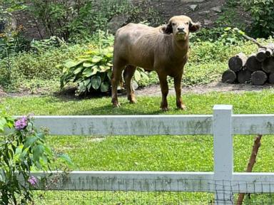
[{"label": "broad-leaved yellow-green hosta plant behind the buffalo's hind legs", "polygon": [[[63,75],[61,76],[61,88],[73,82],[77,84],[76,95],[83,95],[91,90],[98,90],[102,93],[108,92],[111,88],[111,69],[113,59],[113,47],[93,49],[85,55],[79,56],[76,61],[65,61]],[[141,78],[148,79],[148,75],[141,68],[134,74],[135,81]],[[136,86],[136,82],[133,82]]]}]

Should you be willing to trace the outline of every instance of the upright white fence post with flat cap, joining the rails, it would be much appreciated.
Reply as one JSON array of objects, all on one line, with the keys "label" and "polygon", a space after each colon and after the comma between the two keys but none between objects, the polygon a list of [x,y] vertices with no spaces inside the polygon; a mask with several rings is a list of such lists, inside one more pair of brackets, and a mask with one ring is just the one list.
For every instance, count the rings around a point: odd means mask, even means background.
[{"label": "upright white fence post with flat cap, joining the rails", "polygon": [[214,105],[215,204],[233,204],[232,105]]}]

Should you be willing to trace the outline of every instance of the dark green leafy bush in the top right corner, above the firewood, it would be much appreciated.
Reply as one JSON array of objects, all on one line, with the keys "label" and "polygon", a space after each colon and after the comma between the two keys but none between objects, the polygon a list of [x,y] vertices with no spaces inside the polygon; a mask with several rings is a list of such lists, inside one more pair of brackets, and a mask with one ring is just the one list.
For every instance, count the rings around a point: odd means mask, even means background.
[{"label": "dark green leafy bush in the top right corner, above the firewood", "polygon": [[273,0],[241,0],[246,11],[250,11],[253,19],[252,31],[255,37],[267,38],[274,31],[274,1]]}]

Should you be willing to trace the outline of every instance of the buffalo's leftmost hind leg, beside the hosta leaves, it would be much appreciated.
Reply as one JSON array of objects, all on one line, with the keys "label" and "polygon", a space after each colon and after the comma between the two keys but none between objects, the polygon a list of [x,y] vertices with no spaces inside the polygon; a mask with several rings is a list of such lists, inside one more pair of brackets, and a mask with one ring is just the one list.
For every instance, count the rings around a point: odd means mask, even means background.
[{"label": "buffalo's leftmost hind leg, beside the hosta leaves", "polygon": [[122,63],[113,63],[113,70],[111,75],[111,102],[113,107],[121,106],[117,98],[117,87],[118,83],[120,83],[122,72],[125,66],[126,65],[123,65]]}]

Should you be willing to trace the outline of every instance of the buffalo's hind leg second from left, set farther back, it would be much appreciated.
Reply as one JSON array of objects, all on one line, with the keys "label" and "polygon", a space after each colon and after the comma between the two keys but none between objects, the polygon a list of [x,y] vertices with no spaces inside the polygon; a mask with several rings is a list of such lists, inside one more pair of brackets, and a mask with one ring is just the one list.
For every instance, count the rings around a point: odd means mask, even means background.
[{"label": "buffalo's hind leg second from left, set farther back", "polygon": [[125,80],[125,83],[126,83],[126,93],[128,95],[128,100],[131,103],[137,102],[134,95],[134,91],[132,89],[132,85],[131,85],[131,78],[133,77],[135,70],[136,70],[136,66],[127,65],[126,69],[123,71],[123,79]]}]

